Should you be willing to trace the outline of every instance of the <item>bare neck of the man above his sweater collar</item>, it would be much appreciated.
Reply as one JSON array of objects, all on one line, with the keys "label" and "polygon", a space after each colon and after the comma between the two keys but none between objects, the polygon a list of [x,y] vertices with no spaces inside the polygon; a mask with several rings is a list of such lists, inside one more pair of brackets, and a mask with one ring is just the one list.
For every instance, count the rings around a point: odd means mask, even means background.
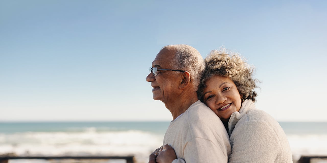
[{"label": "bare neck of the man above his sweater collar", "polygon": [[197,96],[190,96],[185,98],[180,98],[175,100],[173,103],[165,104],[166,108],[171,112],[173,120],[175,120],[179,115],[184,113],[192,104],[198,101]]}]

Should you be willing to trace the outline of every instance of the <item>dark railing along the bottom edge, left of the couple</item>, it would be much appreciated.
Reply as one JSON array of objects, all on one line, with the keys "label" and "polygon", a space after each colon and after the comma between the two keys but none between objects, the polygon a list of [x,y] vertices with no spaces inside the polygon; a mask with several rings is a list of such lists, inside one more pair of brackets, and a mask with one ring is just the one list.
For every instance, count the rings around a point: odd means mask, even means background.
[{"label": "dark railing along the bottom edge, left of the couple", "polygon": [[9,159],[125,159],[126,163],[134,163],[134,156],[0,156],[0,163],[8,163]]}]

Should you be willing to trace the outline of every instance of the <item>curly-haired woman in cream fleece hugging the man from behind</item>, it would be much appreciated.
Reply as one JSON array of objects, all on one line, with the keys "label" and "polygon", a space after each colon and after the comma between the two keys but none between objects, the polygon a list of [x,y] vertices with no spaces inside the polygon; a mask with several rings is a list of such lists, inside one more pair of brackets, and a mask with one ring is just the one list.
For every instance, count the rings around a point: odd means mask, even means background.
[{"label": "curly-haired woman in cream fleece hugging the man from behind", "polygon": [[[229,53],[229,54],[226,54]],[[257,110],[251,68],[237,53],[214,50],[205,59],[206,72],[198,97],[221,119],[230,136],[229,162],[289,163],[291,150],[282,127],[266,112]],[[170,146],[164,149],[172,151]],[[157,162],[185,162],[160,152]],[[217,160],[219,162],[219,160]]]}]

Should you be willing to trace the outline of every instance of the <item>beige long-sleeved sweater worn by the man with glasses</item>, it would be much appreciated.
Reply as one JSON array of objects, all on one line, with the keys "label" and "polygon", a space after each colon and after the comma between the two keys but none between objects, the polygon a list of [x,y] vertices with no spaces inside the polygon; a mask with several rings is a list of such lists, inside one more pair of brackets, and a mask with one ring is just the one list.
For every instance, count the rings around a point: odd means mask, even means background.
[{"label": "beige long-sleeved sweater worn by the man with glasses", "polygon": [[200,100],[172,121],[165,133],[163,145],[175,150],[173,162],[228,162],[231,144],[218,116]]}]

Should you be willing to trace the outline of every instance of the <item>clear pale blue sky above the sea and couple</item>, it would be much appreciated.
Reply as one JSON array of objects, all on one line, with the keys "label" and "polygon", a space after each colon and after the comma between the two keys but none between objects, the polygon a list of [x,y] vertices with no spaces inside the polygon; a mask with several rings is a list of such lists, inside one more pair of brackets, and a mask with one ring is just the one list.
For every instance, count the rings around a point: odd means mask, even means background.
[{"label": "clear pale blue sky above the sea and couple", "polygon": [[0,1],[0,121],[171,121],[149,67],[165,45],[256,67],[256,107],[327,121],[326,1]]}]

